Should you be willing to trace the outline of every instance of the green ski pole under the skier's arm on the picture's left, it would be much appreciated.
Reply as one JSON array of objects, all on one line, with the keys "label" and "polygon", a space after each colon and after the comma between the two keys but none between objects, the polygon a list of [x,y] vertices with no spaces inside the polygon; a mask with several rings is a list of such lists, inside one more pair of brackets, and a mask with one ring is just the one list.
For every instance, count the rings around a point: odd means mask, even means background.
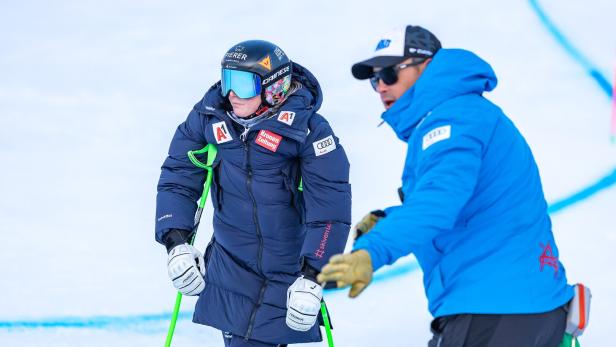
[{"label": "green ski pole under the skier's arm on the picture's left", "polygon": [[[188,151],[188,158],[190,161],[199,168],[205,169],[207,171],[207,177],[205,179],[205,183],[203,184],[203,193],[201,194],[201,198],[199,199],[199,207],[197,208],[197,212],[195,213],[195,226],[193,227],[193,236],[190,239],[190,244],[192,245],[195,242],[195,236],[197,235],[197,229],[199,228],[199,221],[201,220],[201,214],[203,213],[203,208],[205,207],[205,201],[207,200],[208,193],[210,191],[210,185],[212,184],[212,164],[214,163],[214,159],[216,159],[216,153],[218,152],[216,146],[209,144],[197,151]],[[207,153],[207,162],[203,164],[199,159],[197,159],[197,155]],[[175,332],[175,324],[178,320],[178,314],[180,313],[180,305],[182,304],[182,293],[178,292],[175,297],[175,306],[173,307],[173,314],[171,315],[171,322],[169,322],[169,330],[167,331],[167,340],[165,340],[165,347],[171,346],[171,339],[173,338],[173,333]]]}]

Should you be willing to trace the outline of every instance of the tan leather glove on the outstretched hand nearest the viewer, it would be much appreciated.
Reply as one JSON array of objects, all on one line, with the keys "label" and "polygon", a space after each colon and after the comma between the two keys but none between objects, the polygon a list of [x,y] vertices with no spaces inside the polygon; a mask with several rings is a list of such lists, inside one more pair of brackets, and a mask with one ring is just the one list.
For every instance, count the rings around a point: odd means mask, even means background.
[{"label": "tan leather glove on the outstretched hand nearest the viewer", "polygon": [[321,269],[317,276],[319,283],[336,282],[338,288],[351,286],[349,297],[358,296],[372,281],[372,260],[370,254],[360,249],[353,253],[336,254]]}]

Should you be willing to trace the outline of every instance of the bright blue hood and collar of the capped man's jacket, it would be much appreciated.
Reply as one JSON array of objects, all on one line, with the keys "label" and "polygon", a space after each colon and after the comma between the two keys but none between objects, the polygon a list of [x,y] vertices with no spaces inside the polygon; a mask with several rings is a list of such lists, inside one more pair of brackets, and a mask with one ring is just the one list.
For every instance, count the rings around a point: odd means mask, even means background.
[{"label": "bright blue hood and collar of the capped man's jacket", "polygon": [[417,124],[439,104],[461,95],[482,95],[496,84],[492,67],[474,53],[441,49],[417,82],[381,117],[406,142]]}]

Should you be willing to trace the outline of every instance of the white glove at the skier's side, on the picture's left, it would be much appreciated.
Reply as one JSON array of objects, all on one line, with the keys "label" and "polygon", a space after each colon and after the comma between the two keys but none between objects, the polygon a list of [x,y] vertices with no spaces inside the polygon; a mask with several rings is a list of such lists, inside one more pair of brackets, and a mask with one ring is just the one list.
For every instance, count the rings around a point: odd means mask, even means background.
[{"label": "white glove at the skier's side, on the picture's left", "polygon": [[198,295],[205,289],[203,254],[187,243],[171,249],[167,271],[173,286],[184,295]]}]

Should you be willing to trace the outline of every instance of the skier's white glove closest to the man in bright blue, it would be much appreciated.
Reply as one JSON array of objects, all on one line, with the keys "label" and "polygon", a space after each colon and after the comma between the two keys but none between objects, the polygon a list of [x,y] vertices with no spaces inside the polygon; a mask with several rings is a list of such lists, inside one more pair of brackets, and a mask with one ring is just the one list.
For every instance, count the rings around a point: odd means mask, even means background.
[{"label": "skier's white glove closest to the man in bright blue", "polygon": [[317,321],[323,288],[304,276],[287,290],[287,325],[297,331],[308,331]]}]

